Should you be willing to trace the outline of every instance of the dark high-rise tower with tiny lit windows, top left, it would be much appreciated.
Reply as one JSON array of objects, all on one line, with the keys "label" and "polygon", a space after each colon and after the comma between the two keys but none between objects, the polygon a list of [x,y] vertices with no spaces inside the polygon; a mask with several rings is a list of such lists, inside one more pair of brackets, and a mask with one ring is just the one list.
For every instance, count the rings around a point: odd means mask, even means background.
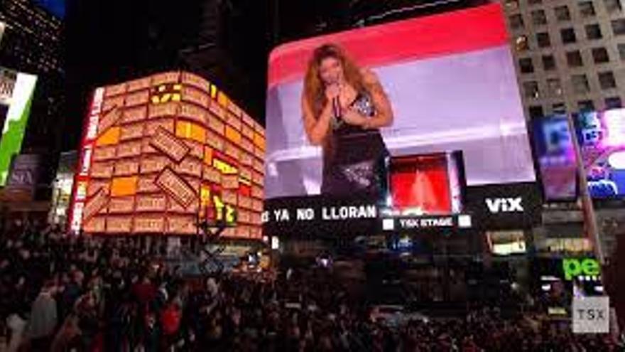
[{"label": "dark high-rise tower with tiny lit windows, top left", "polygon": [[[38,77],[22,151],[54,159],[62,138],[65,93],[62,60],[62,21],[31,0],[4,0],[0,22],[5,24],[0,43],[0,65]],[[51,160],[54,165],[55,161]],[[53,166],[45,168],[43,183],[51,181]]]}]

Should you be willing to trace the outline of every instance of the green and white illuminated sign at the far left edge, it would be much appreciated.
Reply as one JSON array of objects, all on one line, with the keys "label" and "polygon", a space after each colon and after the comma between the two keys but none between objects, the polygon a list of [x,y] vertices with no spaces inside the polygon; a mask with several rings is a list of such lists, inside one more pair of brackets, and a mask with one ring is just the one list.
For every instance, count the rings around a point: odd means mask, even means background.
[{"label": "green and white illuminated sign at the far left edge", "polygon": [[18,73],[11,95],[9,111],[0,137],[0,187],[6,185],[11,158],[21,149],[24,131],[31,114],[37,76]]}]

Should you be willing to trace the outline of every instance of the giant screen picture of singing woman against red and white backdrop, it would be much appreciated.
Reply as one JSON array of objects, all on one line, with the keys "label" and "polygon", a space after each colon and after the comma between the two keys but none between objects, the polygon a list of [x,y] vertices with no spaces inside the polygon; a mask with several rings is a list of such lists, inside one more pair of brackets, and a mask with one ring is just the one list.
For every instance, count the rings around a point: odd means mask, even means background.
[{"label": "giant screen picture of singing woman against red and white backdrop", "polygon": [[266,198],[368,195],[387,176],[379,157],[449,151],[462,151],[469,186],[535,181],[508,38],[489,4],[279,46]]}]

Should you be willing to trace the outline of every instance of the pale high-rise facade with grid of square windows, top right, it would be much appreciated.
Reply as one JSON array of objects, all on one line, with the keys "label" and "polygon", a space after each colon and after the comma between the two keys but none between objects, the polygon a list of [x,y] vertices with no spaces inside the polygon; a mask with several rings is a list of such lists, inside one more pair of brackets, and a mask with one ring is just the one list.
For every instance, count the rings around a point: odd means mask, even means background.
[{"label": "pale high-rise facade with grid of square windows, top right", "polygon": [[621,107],[625,12],[619,0],[504,0],[526,116]]}]

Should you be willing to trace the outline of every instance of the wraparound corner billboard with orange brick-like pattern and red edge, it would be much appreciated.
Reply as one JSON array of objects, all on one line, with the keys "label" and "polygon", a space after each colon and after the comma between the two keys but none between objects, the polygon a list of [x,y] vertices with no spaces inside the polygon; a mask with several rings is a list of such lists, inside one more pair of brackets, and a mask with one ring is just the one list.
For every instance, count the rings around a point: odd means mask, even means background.
[{"label": "wraparound corner billboard with orange brick-like pattern and red edge", "polygon": [[223,92],[170,72],[95,90],[70,228],[261,238],[264,130]]}]

